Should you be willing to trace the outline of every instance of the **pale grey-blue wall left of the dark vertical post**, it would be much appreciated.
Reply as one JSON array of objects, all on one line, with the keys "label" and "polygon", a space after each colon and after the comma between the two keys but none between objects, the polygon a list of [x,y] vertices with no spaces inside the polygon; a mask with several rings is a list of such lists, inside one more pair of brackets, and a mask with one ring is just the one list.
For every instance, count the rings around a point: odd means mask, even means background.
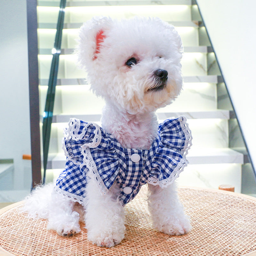
[{"label": "pale grey-blue wall left of the dark vertical post", "polygon": [[[15,189],[31,161],[26,0],[0,1],[0,159],[14,159]],[[30,177],[29,177],[30,178]]]}]

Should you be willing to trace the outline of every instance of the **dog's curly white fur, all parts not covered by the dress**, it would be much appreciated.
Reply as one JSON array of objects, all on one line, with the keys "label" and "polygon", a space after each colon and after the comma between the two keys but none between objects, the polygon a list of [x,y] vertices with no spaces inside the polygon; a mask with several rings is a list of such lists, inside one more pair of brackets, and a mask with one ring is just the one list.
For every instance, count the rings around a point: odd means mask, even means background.
[{"label": "dog's curly white fur, all parts not covered by the dress", "polygon": [[[102,127],[123,147],[148,149],[155,139],[155,110],[175,100],[182,88],[182,51],[175,28],[158,18],[93,18],[81,27],[77,60],[88,72],[92,91],[106,102]],[[128,65],[129,60],[134,63]],[[168,76],[160,77],[156,70],[165,70]],[[84,221],[93,244],[114,246],[125,233],[118,188],[113,185],[101,195],[95,180],[88,179],[81,204],[52,190],[50,184],[36,188],[24,209],[30,217],[48,219],[48,228],[62,236],[80,232],[79,221]],[[175,185],[160,188],[148,184],[148,190],[153,227],[169,235],[187,233],[191,226]]]}]

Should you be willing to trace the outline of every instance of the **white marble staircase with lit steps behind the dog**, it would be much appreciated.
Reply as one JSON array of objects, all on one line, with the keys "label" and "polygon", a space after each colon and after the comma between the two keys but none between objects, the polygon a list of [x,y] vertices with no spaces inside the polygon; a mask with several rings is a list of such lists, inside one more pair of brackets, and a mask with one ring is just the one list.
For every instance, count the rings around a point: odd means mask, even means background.
[{"label": "white marble staircase with lit steps behind the dog", "polygon": [[[38,1],[41,114],[45,106],[58,6],[59,1]],[[241,192],[244,154],[232,148],[244,148],[243,140],[197,5],[191,0],[67,1],[46,181],[51,181],[65,166],[61,140],[62,129],[69,118],[100,123],[104,102],[89,91],[85,73],[76,68],[72,55],[78,28],[84,21],[99,15],[113,18],[157,16],[176,27],[185,52],[182,59],[184,90],[173,104],[159,109],[157,114],[160,121],[185,115],[192,131],[190,164],[180,174],[179,185],[217,189],[221,184],[231,184],[236,192]]]}]

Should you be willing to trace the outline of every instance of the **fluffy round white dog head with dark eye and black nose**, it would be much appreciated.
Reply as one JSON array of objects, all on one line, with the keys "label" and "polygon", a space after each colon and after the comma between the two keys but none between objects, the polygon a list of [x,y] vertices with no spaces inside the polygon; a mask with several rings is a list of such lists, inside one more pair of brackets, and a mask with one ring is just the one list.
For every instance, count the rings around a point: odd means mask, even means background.
[{"label": "fluffy round white dog head with dark eye and black nose", "polygon": [[173,26],[157,19],[85,23],[76,49],[93,92],[130,114],[170,104],[182,88],[182,44]]}]

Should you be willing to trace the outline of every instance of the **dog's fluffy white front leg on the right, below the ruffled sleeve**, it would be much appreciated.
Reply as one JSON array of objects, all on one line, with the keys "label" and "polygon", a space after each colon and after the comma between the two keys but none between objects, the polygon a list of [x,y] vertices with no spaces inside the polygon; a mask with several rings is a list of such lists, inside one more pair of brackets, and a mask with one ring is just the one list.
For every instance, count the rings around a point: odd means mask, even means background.
[{"label": "dog's fluffy white front leg on the right, below the ruffled sleeve", "polygon": [[190,220],[180,203],[175,183],[167,188],[148,184],[148,209],[153,228],[168,235],[184,235],[191,230]]}]

